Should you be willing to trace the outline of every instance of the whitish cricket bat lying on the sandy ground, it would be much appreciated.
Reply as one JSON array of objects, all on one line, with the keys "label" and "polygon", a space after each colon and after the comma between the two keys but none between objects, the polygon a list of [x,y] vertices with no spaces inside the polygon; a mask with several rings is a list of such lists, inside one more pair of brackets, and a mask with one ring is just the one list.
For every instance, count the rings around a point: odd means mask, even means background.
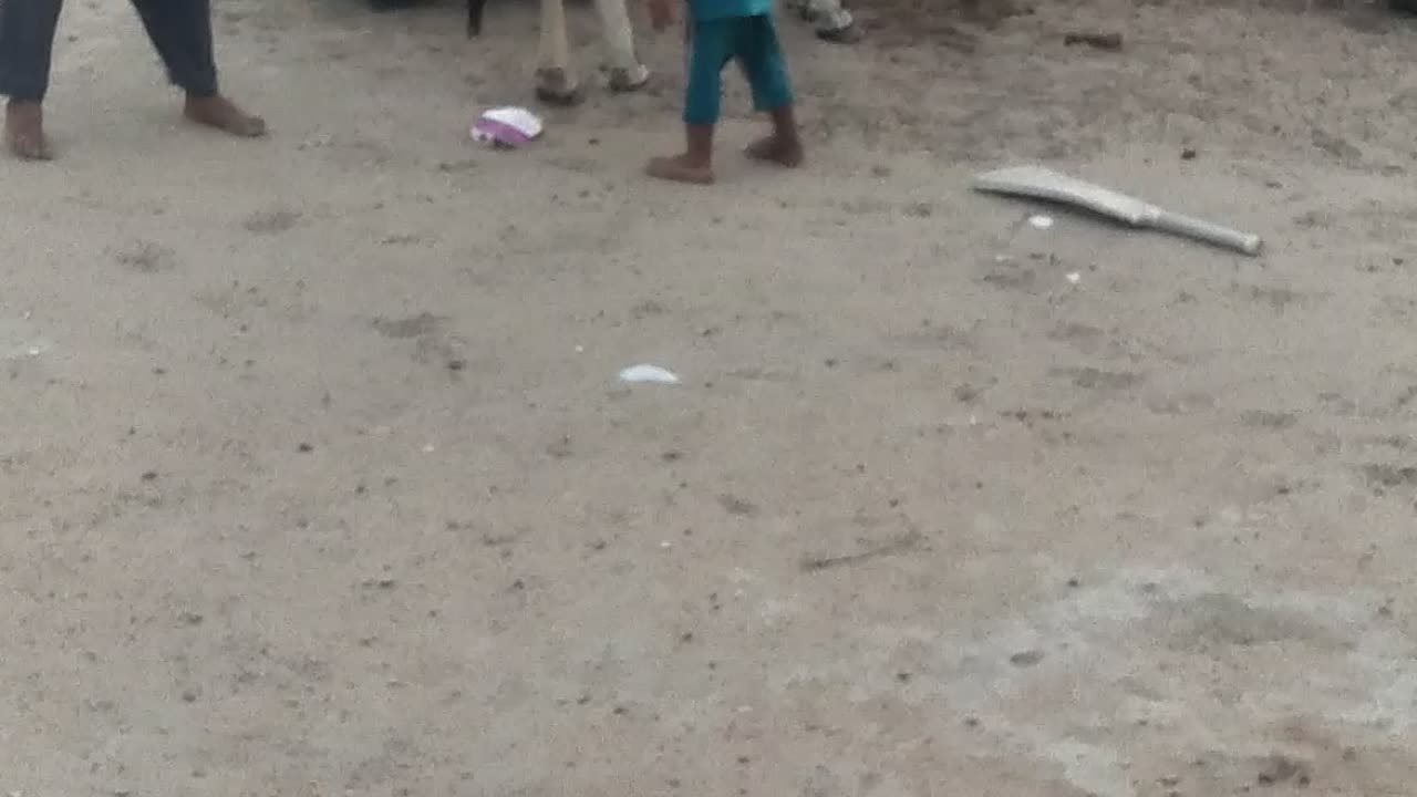
[{"label": "whitish cricket bat lying on the sandy ground", "polygon": [[1068,177],[1067,174],[1058,174],[1041,166],[1013,166],[979,174],[975,177],[975,189],[993,194],[1033,197],[1071,204],[1131,224],[1132,227],[1162,230],[1175,235],[1185,235],[1217,247],[1236,250],[1247,255],[1260,254],[1260,248],[1263,247],[1258,235],[1231,230],[1202,218],[1170,213],[1121,191],[1095,186],[1076,177]]}]

